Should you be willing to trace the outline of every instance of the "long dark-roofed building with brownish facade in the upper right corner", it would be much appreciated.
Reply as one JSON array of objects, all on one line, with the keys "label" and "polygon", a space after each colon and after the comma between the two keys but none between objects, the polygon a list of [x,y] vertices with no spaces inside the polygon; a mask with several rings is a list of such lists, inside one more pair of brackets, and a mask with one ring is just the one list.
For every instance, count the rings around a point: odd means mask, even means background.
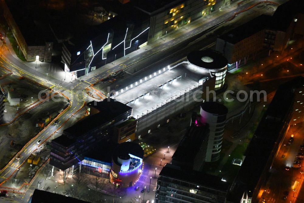
[{"label": "long dark-roofed building with brownish facade in the upper right corner", "polygon": [[[246,64],[257,55],[283,51],[289,40],[303,36],[303,1],[291,0],[276,9],[273,16],[261,15],[217,38],[216,51],[228,60],[228,70]],[[289,12],[293,10],[293,12]],[[263,52],[264,51],[264,52]]]}]

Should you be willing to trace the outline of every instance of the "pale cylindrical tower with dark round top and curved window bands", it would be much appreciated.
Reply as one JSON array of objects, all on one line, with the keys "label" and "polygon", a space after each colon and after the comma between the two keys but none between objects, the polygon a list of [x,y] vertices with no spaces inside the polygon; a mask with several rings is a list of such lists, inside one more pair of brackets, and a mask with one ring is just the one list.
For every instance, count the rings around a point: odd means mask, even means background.
[{"label": "pale cylindrical tower with dark round top and curved window bands", "polygon": [[219,160],[228,109],[217,102],[204,102],[200,109],[200,123],[209,125],[206,162]]}]

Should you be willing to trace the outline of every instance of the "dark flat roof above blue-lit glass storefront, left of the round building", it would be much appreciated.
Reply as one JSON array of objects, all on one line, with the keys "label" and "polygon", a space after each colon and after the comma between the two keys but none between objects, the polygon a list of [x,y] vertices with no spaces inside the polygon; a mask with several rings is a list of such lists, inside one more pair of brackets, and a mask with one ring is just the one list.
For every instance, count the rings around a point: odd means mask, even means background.
[{"label": "dark flat roof above blue-lit glass storefront, left of the round building", "polygon": [[117,145],[117,143],[112,142],[101,142],[100,144],[97,144],[95,148],[90,150],[85,157],[112,163],[112,153]]}]

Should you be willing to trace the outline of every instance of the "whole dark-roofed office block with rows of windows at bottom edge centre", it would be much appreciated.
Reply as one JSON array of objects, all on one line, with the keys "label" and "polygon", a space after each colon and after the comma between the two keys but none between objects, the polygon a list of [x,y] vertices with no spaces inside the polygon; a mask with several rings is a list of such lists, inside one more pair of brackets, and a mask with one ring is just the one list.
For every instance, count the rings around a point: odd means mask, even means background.
[{"label": "whole dark-roofed office block with rows of windows at bottom edge centre", "polygon": [[229,184],[220,177],[166,164],[156,187],[155,203],[225,203]]}]

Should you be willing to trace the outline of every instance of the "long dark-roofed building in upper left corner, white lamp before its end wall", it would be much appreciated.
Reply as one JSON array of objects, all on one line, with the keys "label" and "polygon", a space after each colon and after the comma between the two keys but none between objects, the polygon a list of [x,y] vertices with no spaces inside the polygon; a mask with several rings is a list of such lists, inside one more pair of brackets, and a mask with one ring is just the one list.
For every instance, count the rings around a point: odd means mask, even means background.
[{"label": "long dark-roofed building in upper left corner, white lamp before its end wall", "polygon": [[54,37],[48,24],[37,21],[35,17],[24,14],[37,10],[27,2],[2,1],[3,15],[9,24],[5,32],[11,29],[18,43],[18,52],[25,56],[26,61],[52,61]]}]

